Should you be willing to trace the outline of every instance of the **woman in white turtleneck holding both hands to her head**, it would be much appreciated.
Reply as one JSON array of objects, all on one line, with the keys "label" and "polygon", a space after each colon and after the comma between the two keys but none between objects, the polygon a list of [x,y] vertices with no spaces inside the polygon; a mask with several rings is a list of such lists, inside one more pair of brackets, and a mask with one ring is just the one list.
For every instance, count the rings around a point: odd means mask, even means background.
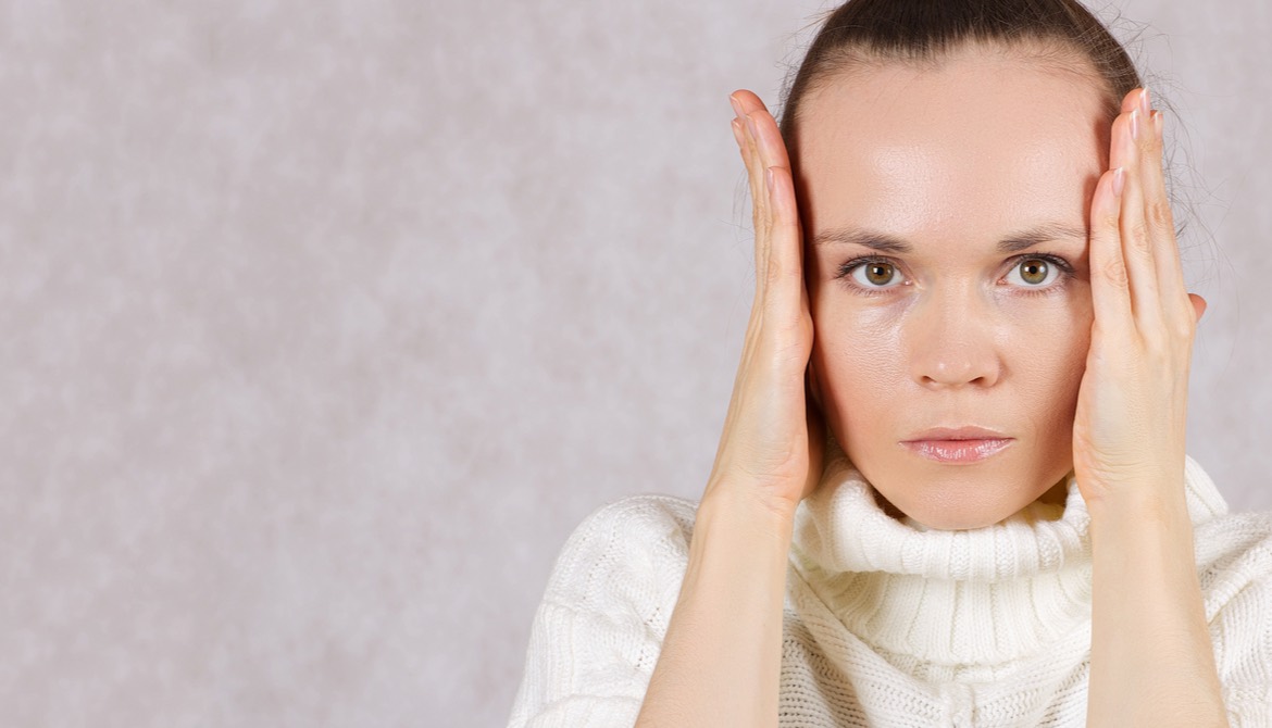
[{"label": "woman in white turtleneck holding both hands to her head", "polygon": [[1075,0],[851,0],[731,95],[701,503],[571,536],[513,725],[1272,725],[1272,517],[1184,452],[1164,121]]}]

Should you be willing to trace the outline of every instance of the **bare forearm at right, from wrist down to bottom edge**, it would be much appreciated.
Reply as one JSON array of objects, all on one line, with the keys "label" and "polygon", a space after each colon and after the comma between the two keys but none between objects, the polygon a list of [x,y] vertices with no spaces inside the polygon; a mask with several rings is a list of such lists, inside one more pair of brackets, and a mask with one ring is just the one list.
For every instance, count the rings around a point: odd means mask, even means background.
[{"label": "bare forearm at right, from wrist down to bottom edge", "polygon": [[1178,493],[1090,504],[1091,728],[1227,725]]}]

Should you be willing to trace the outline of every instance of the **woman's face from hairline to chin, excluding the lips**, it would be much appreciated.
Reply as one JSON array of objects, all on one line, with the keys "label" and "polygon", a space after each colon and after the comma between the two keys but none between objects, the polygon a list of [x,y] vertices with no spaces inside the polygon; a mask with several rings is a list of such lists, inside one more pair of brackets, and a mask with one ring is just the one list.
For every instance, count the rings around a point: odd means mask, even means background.
[{"label": "woman's face from hairline to chin, excluding the lips", "polygon": [[[814,391],[854,465],[926,527],[1063,503],[1108,123],[1093,80],[971,48],[803,100]],[[904,445],[967,426],[1010,442],[971,462]]]}]

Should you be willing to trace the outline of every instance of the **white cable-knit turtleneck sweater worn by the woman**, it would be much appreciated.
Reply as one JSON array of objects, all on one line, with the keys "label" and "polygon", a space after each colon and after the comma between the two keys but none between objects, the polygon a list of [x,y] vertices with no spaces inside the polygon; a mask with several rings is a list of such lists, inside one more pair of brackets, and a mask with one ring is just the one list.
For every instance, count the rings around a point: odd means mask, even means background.
[{"label": "white cable-knit turtleneck sweater worn by the woman", "polygon": [[[828,457],[795,513],[778,725],[1084,725],[1090,518],[1072,474],[1063,507],[937,531],[888,516],[842,452]],[[1192,457],[1184,476],[1229,719],[1272,727],[1272,512],[1229,513]],[[575,530],[534,615],[510,728],[635,724],[696,508],[632,495]]]}]

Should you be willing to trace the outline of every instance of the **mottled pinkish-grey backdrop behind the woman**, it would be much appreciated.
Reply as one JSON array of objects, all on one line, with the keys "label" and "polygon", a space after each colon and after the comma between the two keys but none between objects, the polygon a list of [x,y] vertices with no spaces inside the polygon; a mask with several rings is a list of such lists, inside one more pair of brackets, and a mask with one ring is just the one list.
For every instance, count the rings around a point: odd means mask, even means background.
[{"label": "mottled pinkish-grey backdrop behind the woman", "polygon": [[[701,494],[726,95],[820,8],[0,3],[0,724],[504,724],[571,530]],[[1189,452],[1267,509],[1269,6],[1118,8],[1184,125]]]}]

